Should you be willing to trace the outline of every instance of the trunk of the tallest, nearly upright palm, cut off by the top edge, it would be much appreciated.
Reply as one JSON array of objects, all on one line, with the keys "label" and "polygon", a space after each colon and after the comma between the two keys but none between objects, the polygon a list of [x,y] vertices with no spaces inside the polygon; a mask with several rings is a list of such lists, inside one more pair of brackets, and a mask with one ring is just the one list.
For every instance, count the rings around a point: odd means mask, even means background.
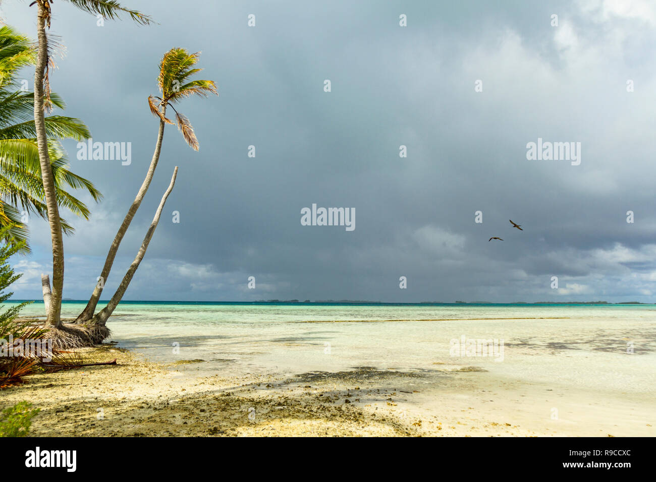
[{"label": "trunk of the tallest, nearly upright palm, cut off by the top edge", "polygon": [[37,50],[37,64],[34,72],[34,124],[41,161],[41,177],[43,178],[43,192],[48,209],[48,222],[52,237],[52,296],[46,326],[60,327],[62,311],[62,290],[64,289],[64,241],[62,240],[62,223],[59,218],[57,197],[52,176],[52,166],[48,153],[48,140],[45,131],[45,113],[43,112],[43,77],[48,62],[48,38],[45,34],[45,19],[47,12],[43,3],[37,3],[37,37],[39,47]]}]

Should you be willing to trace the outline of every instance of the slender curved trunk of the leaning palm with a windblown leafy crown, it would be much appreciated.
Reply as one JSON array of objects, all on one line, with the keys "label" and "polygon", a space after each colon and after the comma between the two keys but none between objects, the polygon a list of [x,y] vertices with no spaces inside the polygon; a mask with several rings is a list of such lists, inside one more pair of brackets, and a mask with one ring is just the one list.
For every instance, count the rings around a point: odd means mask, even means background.
[{"label": "slender curved trunk of the leaning palm with a windblown leafy crown", "polygon": [[[166,113],[166,106],[164,106],[163,111],[164,113]],[[146,195],[146,191],[148,191],[148,188],[150,187],[150,182],[153,180],[153,175],[155,174],[155,168],[157,167],[157,162],[159,161],[159,153],[162,148],[163,139],[164,139],[164,121],[159,121],[157,144],[155,144],[155,152],[153,153],[153,158],[150,161],[150,167],[148,167],[146,178],[144,179],[144,182],[141,184],[141,188],[139,189],[139,192],[136,194],[136,197],[134,198],[134,201],[130,206],[130,209],[125,215],[125,218],[123,219],[123,223],[121,223],[121,227],[119,228],[118,232],[114,237],[114,240],[112,241],[112,246],[110,246],[110,251],[107,253],[105,264],[102,267],[102,272],[100,273],[100,278],[102,280],[102,283],[96,284],[96,287],[94,288],[93,293],[91,294],[91,298],[89,299],[87,306],[82,311],[82,313],[78,315],[77,319],[75,319],[75,323],[85,323],[85,321],[89,321],[89,319],[93,317],[93,314],[96,311],[96,305],[98,304],[98,300],[100,300],[100,294],[102,294],[104,283],[106,283],[107,278],[110,275],[110,271],[112,270],[112,264],[114,262],[114,258],[116,257],[116,253],[119,251],[119,246],[121,245],[121,241],[123,241],[123,236],[125,236],[125,233],[127,232],[127,228],[129,228],[130,223],[132,222],[134,215],[136,214],[136,210],[139,209],[139,206],[141,205],[141,201],[143,201],[144,196]]]}]

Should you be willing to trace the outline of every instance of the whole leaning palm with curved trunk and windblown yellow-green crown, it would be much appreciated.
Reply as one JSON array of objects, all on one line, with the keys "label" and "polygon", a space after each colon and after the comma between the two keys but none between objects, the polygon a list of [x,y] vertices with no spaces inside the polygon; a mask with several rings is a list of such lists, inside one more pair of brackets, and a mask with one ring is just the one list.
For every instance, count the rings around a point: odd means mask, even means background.
[{"label": "whole leaning palm with curved trunk and windblown yellow-green crown", "polygon": [[[146,172],[146,178],[141,185],[138,193],[130,209],[128,210],[123,223],[116,233],[114,240],[112,241],[112,246],[110,251],[107,254],[105,264],[102,267],[100,272],[100,280],[102,283],[98,283],[89,299],[89,303],[85,309],[77,317],[77,323],[85,323],[92,319],[94,316],[94,311],[98,305],[98,300],[100,300],[100,294],[102,293],[104,283],[107,281],[110,271],[112,270],[112,264],[116,253],[121,244],[123,236],[127,228],[130,226],[134,215],[136,214],[137,209],[141,205],[141,201],[148,191],[150,182],[152,181],[153,175],[155,174],[155,168],[157,167],[157,162],[159,161],[159,153],[161,152],[162,140],[164,138],[164,127],[167,124],[173,124],[173,121],[166,117],[167,107],[170,107],[175,112],[176,121],[178,124],[178,129],[182,133],[184,140],[189,144],[194,150],[199,149],[198,140],[194,134],[194,127],[190,123],[189,119],[178,112],[174,108],[174,104],[178,104],[182,99],[190,96],[201,96],[206,97],[209,94],[217,94],[216,85],[213,81],[209,80],[192,80],[191,77],[201,71],[202,69],[195,68],[195,65],[198,62],[200,52],[195,54],[188,53],[185,49],[175,48],[166,52],[159,62],[159,76],[157,77],[157,85],[159,87],[159,92],[161,96],[149,96],[148,105],[150,106],[150,111],[159,119],[159,131],[157,132],[157,142],[155,142],[155,151],[153,153],[152,160],[150,161],[150,167],[148,167],[148,172]],[[217,94],[218,95],[218,94]],[[136,270],[136,268],[135,268]],[[129,283],[129,281],[128,281]],[[121,283],[123,285],[123,283]],[[123,287],[123,292],[127,289],[127,285]],[[122,294],[121,294],[122,296]],[[120,300],[120,297],[119,297]],[[107,310],[104,310],[104,313],[107,313]],[[107,317],[104,316],[104,321]],[[103,323],[104,323],[103,321]]]}]

